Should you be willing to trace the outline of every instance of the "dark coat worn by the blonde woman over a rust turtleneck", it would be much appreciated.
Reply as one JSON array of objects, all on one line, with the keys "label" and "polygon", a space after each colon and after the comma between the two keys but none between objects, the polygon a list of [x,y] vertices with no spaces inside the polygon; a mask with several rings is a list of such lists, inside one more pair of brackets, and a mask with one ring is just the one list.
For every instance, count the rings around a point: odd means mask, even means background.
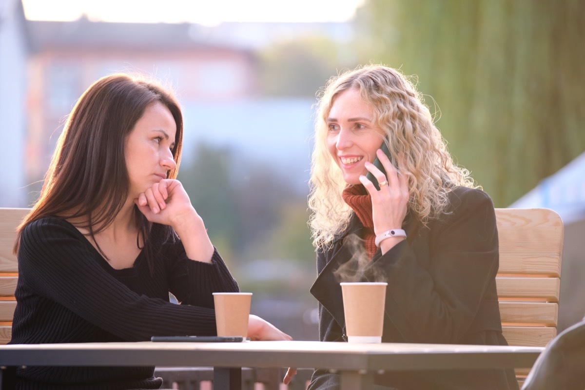
[{"label": "dark coat worn by the blonde woman over a rust turtleneck", "polygon": [[[388,282],[384,343],[506,345],[495,287],[498,234],[494,206],[479,189],[449,195],[443,218],[422,226],[405,220],[407,240],[386,254],[378,250],[362,281]],[[352,258],[345,238],[362,236],[355,216],[330,250],[318,250],[318,277],[311,294],[319,301],[319,339],[346,341],[341,288],[334,272]],[[378,385],[400,390],[518,389],[513,370],[387,372]],[[335,389],[338,378],[316,370],[309,389]]]}]

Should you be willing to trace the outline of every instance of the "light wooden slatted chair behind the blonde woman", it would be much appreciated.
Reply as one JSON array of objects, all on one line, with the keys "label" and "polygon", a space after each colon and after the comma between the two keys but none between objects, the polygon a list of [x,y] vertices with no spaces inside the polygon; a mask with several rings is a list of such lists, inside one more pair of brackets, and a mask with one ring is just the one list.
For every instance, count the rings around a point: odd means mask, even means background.
[{"label": "light wooden slatted chair behind the blonde woman", "polygon": [[[504,337],[511,346],[546,346],[556,336],[563,222],[550,209],[496,209],[495,216]],[[520,384],[528,371],[516,370]]]}]

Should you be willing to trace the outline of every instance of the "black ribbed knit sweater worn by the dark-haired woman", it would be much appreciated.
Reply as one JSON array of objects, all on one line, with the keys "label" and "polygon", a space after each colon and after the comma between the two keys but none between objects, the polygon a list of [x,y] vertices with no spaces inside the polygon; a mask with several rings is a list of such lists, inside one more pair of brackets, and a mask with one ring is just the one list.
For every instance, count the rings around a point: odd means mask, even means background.
[{"label": "black ribbed knit sweater worn by the dark-haired woman", "polygon": [[[143,253],[115,270],[66,220],[42,218],[22,232],[11,344],[147,341],[151,336],[214,335],[212,292],[239,291],[217,251],[212,264],[187,258],[179,240],[160,248],[154,272]],[[180,305],[169,302],[168,293]],[[157,389],[154,367],[18,368],[17,389]]]}]

